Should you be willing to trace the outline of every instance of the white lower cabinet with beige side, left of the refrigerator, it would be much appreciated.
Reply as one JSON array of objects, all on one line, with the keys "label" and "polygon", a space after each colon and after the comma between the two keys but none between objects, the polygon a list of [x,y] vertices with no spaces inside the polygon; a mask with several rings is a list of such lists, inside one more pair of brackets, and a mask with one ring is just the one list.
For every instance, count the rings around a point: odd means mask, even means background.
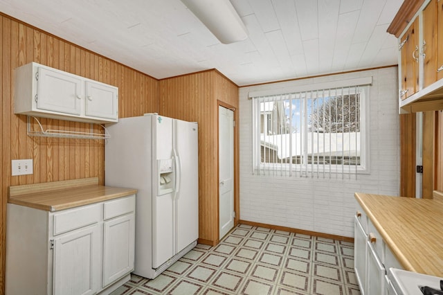
[{"label": "white lower cabinet with beige side, left of the refrigerator", "polygon": [[109,294],[134,269],[134,221],[135,195],[56,212],[8,204],[6,294]]}]

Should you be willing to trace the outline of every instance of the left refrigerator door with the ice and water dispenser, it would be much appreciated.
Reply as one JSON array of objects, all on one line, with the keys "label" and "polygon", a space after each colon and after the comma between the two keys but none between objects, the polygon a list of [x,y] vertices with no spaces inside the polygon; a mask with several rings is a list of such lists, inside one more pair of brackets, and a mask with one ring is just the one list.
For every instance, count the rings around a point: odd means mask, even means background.
[{"label": "left refrigerator door with the ice and water dispenser", "polygon": [[[152,116],[152,163],[159,166],[164,159],[172,159],[172,147],[174,136],[173,119],[163,116]],[[174,163],[174,161],[172,161]],[[153,169],[153,183],[161,183],[161,169]],[[173,170],[172,173],[175,173]],[[170,175],[171,179],[172,177]],[[175,191],[163,193],[159,191],[159,185],[154,185],[152,195],[152,268],[156,269],[174,256],[174,204]]]}]

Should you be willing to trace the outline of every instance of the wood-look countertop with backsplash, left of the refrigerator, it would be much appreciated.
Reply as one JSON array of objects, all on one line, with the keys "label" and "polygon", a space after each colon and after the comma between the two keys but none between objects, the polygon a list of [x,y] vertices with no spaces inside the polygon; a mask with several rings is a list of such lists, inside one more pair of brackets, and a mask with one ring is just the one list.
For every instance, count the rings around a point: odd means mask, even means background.
[{"label": "wood-look countertop with backsplash, left of the refrigerator", "polygon": [[99,186],[96,177],[46,184],[10,186],[8,203],[28,206],[44,211],[60,211],[134,195],[137,190]]}]

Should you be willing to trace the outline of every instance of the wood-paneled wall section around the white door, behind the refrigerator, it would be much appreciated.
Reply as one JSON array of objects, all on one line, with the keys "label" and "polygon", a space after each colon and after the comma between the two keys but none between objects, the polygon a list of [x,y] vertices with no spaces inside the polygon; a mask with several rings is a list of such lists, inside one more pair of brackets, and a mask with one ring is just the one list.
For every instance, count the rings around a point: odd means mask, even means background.
[{"label": "wood-paneled wall section around the white door, behind the refrigerator", "polygon": [[[199,123],[199,242],[206,244],[219,239],[219,102],[237,109],[238,87],[216,70],[160,80],[159,114]],[[238,167],[235,175],[238,204]]]}]

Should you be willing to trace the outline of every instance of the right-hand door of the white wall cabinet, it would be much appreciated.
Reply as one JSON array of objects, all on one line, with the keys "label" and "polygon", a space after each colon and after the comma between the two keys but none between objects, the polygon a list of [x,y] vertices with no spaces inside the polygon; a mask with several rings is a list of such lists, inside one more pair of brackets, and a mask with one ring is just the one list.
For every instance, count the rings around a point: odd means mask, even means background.
[{"label": "right-hand door of the white wall cabinet", "polygon": [[118,118],[118,88],[100,82],[86,82],[86,116]]}]

